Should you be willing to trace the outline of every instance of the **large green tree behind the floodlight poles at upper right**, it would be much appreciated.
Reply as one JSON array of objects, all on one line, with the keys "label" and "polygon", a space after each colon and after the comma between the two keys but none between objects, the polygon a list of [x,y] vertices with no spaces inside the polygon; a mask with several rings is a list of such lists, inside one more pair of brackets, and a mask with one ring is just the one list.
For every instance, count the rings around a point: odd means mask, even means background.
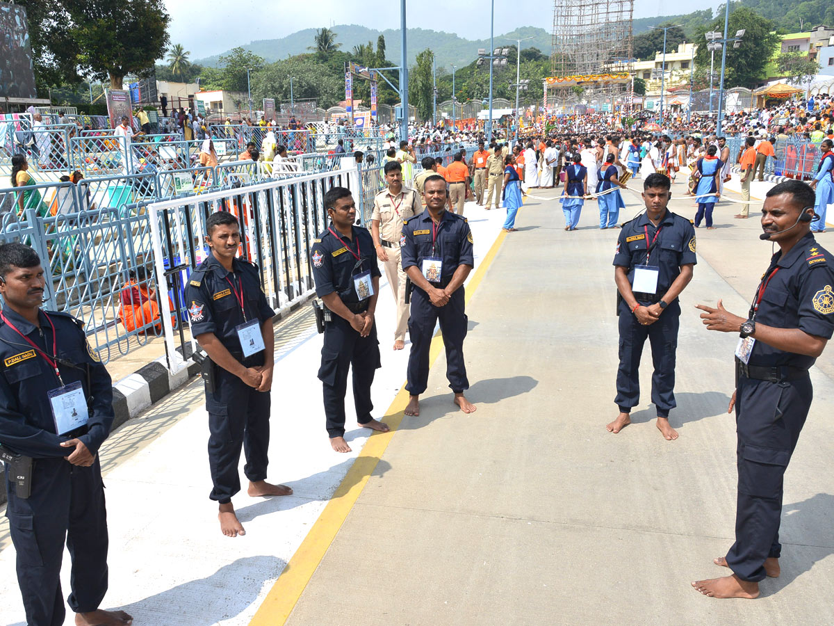
[{"label": "large green tree behind the floodlight poles at upper right", "polygon": [[[773,32],[775,25],[769,19],[762,18],[746,6],[737,4],[735,6],[736,9],[730,13],[730,28],[727,33],[732,35],[741,28],[745,29],[745,33],[741,46],[733,48],[730,45],[727,48],[724,85],[725,87],[754,88],[763,78],[766,78],[767,64],[773,58],[780,39],[779,35]],[[706,31],[724,32],[723,8],[719,8],[716,19],[712,23],[702,25],[696,31],[695,40],[706,43],[704,38]],[[716,52],[716,71],[721,70],[720,59],[721,52]],[[698,46],[695,64],[696,67],[710,67],[710,53],[706,45]]]}]

